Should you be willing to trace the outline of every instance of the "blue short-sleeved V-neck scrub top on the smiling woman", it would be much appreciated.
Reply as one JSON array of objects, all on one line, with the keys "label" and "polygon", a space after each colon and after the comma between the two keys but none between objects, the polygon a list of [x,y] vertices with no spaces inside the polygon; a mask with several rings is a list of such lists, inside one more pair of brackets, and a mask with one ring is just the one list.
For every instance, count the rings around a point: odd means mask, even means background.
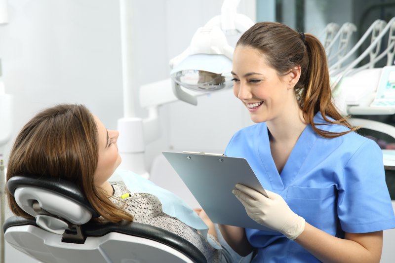
[{"label": "blue short-sleeved V-neck scrub top on the smiling woman", "polygon": [[[317,128],[326,131],[349,130],[326,124],[320,112],[314,123],[324,123]],[[225,154],[247,159],[264,188],[280,194],[293,212],[331,235],[343,238],[344,232],[395,228],[382,152],[374,141],[356,132],[326,139],[307,125],[281,174],[272,158],[265,123],[238,131]],[[281,233],[245,231],[251,245],[259,249],[253,262],[319,262]]]}]

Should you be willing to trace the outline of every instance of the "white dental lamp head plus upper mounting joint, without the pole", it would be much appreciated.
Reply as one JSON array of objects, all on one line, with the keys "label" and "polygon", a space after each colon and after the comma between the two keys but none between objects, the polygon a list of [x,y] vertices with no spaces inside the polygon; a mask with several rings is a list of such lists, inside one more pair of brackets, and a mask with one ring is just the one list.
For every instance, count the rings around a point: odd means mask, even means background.
[{"label": "white dental lamp head plus upper mounting joint, without the pole", "polygon": [[238,2],[225,0],[222,14],[198,28],[190,46],[170,60],[173,92],[179,100],[197,105],[196,97],[181,87],[211,92],[233,86],[234,47],[228,44],[227,36],[244,33],[254,24],[249,17],[236,13]]}]

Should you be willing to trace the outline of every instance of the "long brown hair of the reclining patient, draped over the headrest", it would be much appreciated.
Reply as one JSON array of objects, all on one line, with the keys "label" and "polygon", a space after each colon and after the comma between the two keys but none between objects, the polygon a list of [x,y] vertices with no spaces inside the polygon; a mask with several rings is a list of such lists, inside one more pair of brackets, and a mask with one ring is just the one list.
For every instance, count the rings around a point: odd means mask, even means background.
[{"label": "long brown hair of the reclining patient, draped over the headrest", "polygon": [[[89,203],[110,222],[132,221],[95,187],[98,132],[93,115],[83,105],[62,104],[37,113],[22,128],[8,159],[7,181],[15,175],[51,176],[74,182]],[[31,218],[7,191],[11,211]]]}]

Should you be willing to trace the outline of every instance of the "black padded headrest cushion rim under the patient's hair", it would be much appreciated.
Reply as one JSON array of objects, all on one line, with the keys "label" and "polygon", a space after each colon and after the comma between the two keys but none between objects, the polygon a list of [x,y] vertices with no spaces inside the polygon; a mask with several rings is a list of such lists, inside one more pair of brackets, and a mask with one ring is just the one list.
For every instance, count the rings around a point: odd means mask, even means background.
[{"label": "black padded headrest cushion rim under the patient's hair", "polygon": [[81,190],[73,182],[70,182],[68,180],[49,176],[35,177],[30,175],[17,175],[11,177],[7,181],[7,189],[12,195],[14,195],[16,188],[23,186],[37,187],[56,192],[84,206],[87,210],[89,210],[89,212],[92,213],[93,218],[97,218],[100,216],[92,208]]}]

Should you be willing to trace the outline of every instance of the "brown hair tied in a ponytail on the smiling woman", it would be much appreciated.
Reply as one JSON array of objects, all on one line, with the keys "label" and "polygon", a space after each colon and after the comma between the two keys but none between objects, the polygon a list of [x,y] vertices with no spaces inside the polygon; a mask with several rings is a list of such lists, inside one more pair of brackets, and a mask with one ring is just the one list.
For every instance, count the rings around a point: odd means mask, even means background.
[{"label": "brown hair tied in a ponytail on the smiling woman", "polygon": [[[305,120],[317,134],[334,138],[357,129],[350,125],[332,102],[325,49],[315,36],[298,33],[281,23],[260,22],[239,38],[238,45],[260,50],[278,75],[285,75],[300,66],[301,76],[294,91]],[[318,111],[325,121],[344,125],[350,130],[336,133],[317,128],[320,124],[314,123],[313,118]]]}]

